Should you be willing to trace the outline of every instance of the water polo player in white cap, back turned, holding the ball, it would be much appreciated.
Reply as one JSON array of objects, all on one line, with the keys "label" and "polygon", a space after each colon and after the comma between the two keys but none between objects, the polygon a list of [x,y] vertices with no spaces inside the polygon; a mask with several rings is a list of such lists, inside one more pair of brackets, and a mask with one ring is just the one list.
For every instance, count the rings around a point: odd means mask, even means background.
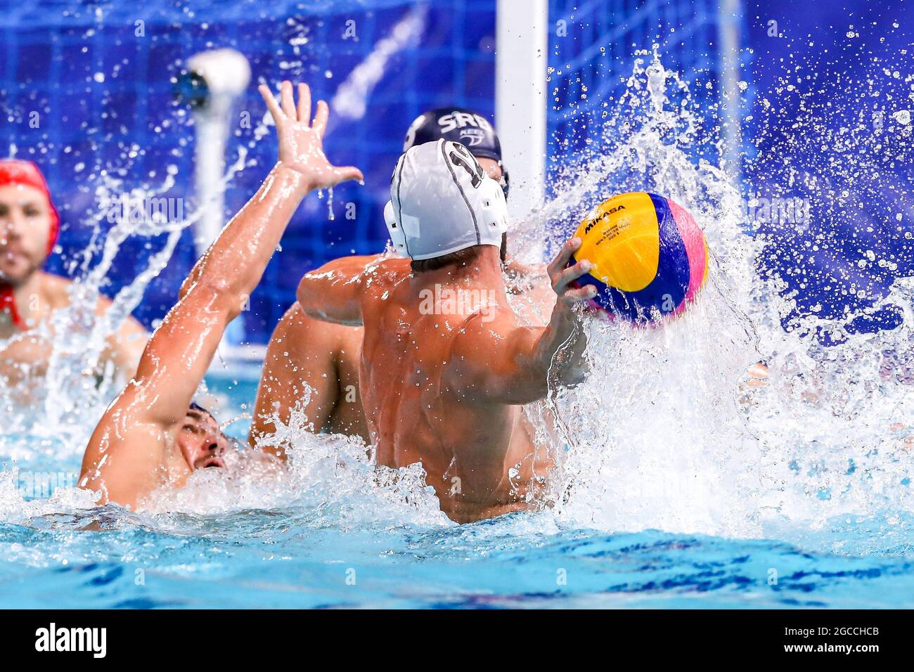
[{"label": "water polo player in white cap, back turned, holding the ball", "polygon": [[359,386],[377,464],[420,462],[458,522],[536,507],[550,456],[521,405],[583,378],[575,306],[593,293],[571,283],[589,262],[568,266],[580,241],[549,264],[548,325],[529,326],[505,291],[504,193],[466,147],[410,147],[385,212],[403,256],[331,261],[298,289],[305,314],[365,326]]}]

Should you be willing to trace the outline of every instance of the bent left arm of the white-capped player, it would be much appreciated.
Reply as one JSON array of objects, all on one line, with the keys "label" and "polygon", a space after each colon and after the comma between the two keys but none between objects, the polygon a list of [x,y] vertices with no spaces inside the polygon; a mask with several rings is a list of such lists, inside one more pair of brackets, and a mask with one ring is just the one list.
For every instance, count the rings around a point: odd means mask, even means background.
[{"label": "bent left arm of the white-capped player", "polygon": [[383,259],[377,254],[343,257],[305,273],[296,293],[304,314],[337,325],[361,325],[365,283]]}]

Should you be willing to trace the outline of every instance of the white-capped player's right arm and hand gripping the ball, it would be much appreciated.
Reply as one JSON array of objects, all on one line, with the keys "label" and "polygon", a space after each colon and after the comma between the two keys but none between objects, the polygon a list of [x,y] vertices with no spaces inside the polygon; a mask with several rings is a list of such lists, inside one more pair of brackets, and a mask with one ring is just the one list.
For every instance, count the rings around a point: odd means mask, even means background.
[{"label": "white-capped player's right arm and hand gripping the ball", "polygon": [[452,389],[469,400],[524,404],[544,399],[550,382],[574,385],[584,379],[587,336],[574,306],[589,301],[595,291],[572,287],[590,270],[590,261],[567,268],[579,247],[579,239],[569,240],[549,264],[557,297],[547,326],[521,326],[510,311],[500,311],[489,323],[479,314],[467,321],[454,340]]}]

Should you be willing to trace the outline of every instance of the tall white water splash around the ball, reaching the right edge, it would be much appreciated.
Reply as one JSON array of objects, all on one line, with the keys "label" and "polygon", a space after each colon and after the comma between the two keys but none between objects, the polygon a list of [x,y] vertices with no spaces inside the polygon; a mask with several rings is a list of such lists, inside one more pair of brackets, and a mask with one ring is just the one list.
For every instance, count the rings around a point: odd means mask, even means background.
[{"label": "tall white water splash around the ball, reaching the right edge", "polygon": [[[690,160],[712,138],[689,103],[655,52],[646,65],[637,60],[600,152],[562,171],[558,196],[537,213],[563,222],[541,231],[555,248],[594,203],[652,191],[690,210],[711,251],[707,285],[682,318],[653,331],[591,322],[593,375],[529,413],[543,428],[551,406],[568,445],[558,452],[556,515],[603,529],[743,537],[846,515],[899,525],[914,443],[911,311],[891,332],[850,333],[859,312],[793,317],[805,328],[785,332],[795,294],[776,273],[757,272],[765,240],[746,235],[739,182]],[[899,281],[866,310],[911,299]],[[815,337],[823,329],[844,342],[824,347]],[[752,389],[746,370],[759,359],[771,377]]]}]

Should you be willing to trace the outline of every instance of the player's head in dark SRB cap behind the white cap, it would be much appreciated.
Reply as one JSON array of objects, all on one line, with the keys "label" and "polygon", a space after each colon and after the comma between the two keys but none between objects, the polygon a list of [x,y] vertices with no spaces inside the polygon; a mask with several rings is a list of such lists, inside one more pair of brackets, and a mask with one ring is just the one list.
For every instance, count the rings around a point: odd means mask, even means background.
[{"label": "player's head in dark SRB cap behind the white cap", "polygon": [[508,195],[508,173],[502,162],[502,144],[492,124],[479,112],[462,107],[440,107],[423,112],[409,124],[403,151],[437,140],[460,143],[476,157],[485,173]]}]

